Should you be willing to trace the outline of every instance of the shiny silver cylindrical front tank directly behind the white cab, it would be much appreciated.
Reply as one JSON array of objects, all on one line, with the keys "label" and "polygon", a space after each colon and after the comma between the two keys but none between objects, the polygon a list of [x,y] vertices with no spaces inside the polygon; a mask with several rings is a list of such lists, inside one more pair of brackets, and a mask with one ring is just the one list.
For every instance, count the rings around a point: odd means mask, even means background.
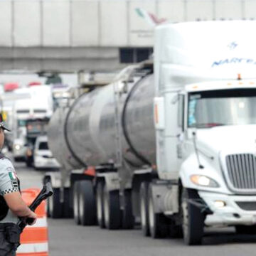
[{"label": "shiny silver cylindrical front tank directly behind the white cab", "polygon": [[[153,81],[153,75],[137,78],[137,82],[128,83],[129,90],[121,97],[122,156],[134,168],[156,163]],[[98,88],[75,101],[66,118],[65,139],[80,164],[116,161],[114,85]]]}]

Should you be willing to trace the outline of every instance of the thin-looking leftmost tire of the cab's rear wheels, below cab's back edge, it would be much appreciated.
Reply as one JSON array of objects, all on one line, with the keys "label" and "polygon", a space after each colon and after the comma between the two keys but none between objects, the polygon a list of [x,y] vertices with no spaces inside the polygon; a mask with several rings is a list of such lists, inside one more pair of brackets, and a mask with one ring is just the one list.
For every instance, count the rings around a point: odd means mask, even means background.
[{"label": "thin-looking leftmost tire of the cab's rear wheels, below cab's back edge", "polygon": [[144,181],[141,183],[139,189],[139,204],[140,204],[140,216],[141,216],[141,225],[142,233],[144,236],[149,236],[149,203],[148,203],[148,189],[149,183]]}]

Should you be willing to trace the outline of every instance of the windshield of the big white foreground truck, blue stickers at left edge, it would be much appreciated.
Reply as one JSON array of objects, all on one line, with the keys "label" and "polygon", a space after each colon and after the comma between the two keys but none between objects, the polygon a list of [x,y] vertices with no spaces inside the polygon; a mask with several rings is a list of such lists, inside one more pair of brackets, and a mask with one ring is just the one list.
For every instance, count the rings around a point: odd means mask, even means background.
[{"label": "windshield of the big white foreground truck, blue stickers at left edge", "polygon": [[188,127],[256,124],[256,89],[209,90],[188,95]]}]

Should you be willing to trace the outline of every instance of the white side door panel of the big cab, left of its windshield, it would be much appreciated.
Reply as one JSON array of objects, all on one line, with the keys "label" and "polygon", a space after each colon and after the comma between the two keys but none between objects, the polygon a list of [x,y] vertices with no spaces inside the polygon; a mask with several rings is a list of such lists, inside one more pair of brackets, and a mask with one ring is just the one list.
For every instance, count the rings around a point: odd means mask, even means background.
[{"label": "white side door panel of the big cab, left of its windshield", "polygon": [[182,158],[184,97],[178,92],[168,92],[164,97],[156,97],[154,104],[159,176],[176,179]]}]

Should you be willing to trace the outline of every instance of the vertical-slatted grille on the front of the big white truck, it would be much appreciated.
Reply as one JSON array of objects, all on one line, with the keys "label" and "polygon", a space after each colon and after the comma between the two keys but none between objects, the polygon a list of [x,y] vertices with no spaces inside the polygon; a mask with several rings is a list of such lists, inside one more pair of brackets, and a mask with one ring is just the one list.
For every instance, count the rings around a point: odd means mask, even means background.
[{"label": "vertical-slatted grille on the front of the big white truck", "polygon": [[256,188],[256,157],[253,154],[226,156],[228,177],[239,190]]}]

